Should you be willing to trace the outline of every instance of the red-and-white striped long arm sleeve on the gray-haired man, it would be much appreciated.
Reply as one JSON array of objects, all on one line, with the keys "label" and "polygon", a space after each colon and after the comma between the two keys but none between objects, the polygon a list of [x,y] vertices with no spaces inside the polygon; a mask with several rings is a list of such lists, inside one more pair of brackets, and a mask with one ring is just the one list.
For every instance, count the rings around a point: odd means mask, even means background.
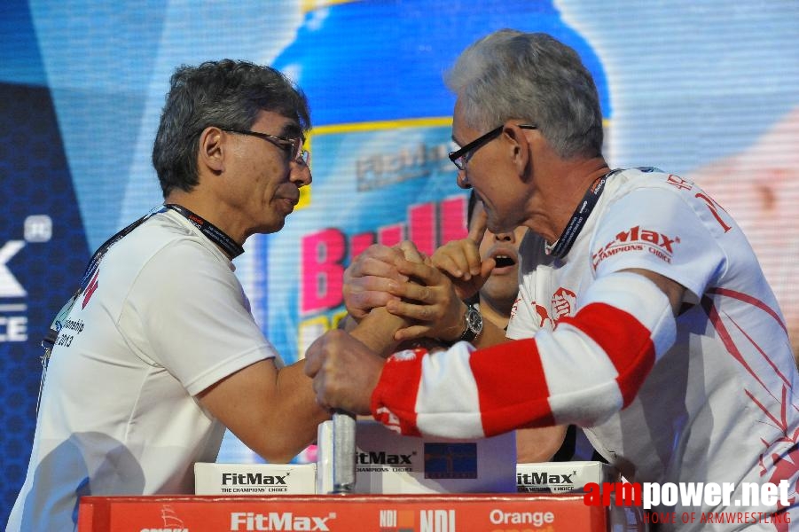
[{"label": "red-and-white striped long arm sleeve on the gray-haired man", "polygon": [[372,414],[403,434],[475,438],[521,426],[591,426],[631,403],[676,324],[668,298],[632,272],[599,278],[555,331],[474,350],[388,359]]}]

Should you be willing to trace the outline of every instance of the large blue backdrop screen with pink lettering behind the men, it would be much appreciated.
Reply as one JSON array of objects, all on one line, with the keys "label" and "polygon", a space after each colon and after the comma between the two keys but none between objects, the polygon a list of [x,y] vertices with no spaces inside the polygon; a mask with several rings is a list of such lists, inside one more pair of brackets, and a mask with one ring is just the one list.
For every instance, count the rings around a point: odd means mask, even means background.
[{"label": "large blue backdrop screen with pink lettering behind the men", "polygon": [[[797,25],[795,3],[723,0],[4,5],[0,522],[27,468],[43,333],[90,253],[162,201],[151,153],[176,66],[252,60],[308,95],[314,183],[283,231],[249,239],[236,260],[287,363],[341,319],[341,273],[359,251],[411,239],[429,252],[464,234],[443,74],[502,27],[578,51],[611,167],[693,179],[736,218],[799,346]],[[228,436],[220,460],[260,458]]]}]

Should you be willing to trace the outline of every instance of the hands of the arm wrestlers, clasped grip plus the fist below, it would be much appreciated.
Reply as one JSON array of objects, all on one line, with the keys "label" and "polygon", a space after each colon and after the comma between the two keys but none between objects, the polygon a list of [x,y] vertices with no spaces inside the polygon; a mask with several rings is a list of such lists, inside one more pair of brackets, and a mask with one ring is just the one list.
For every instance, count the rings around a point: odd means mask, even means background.
[{"label": "hands of the arm wrestlers, clasped grip plus the fist below", "polygon": [[477,293],[495,266],[493,259],[480,259],[484,215],[476,222],[466,239],[439,247],[431,257],[409,241],[373,245],[356,257],[343,287],[356,325],[325,332],[305,354],[317,403],[369,414],[384,357],[411,340],[442,345],[458,339],[465,326],[463,300]]}]

